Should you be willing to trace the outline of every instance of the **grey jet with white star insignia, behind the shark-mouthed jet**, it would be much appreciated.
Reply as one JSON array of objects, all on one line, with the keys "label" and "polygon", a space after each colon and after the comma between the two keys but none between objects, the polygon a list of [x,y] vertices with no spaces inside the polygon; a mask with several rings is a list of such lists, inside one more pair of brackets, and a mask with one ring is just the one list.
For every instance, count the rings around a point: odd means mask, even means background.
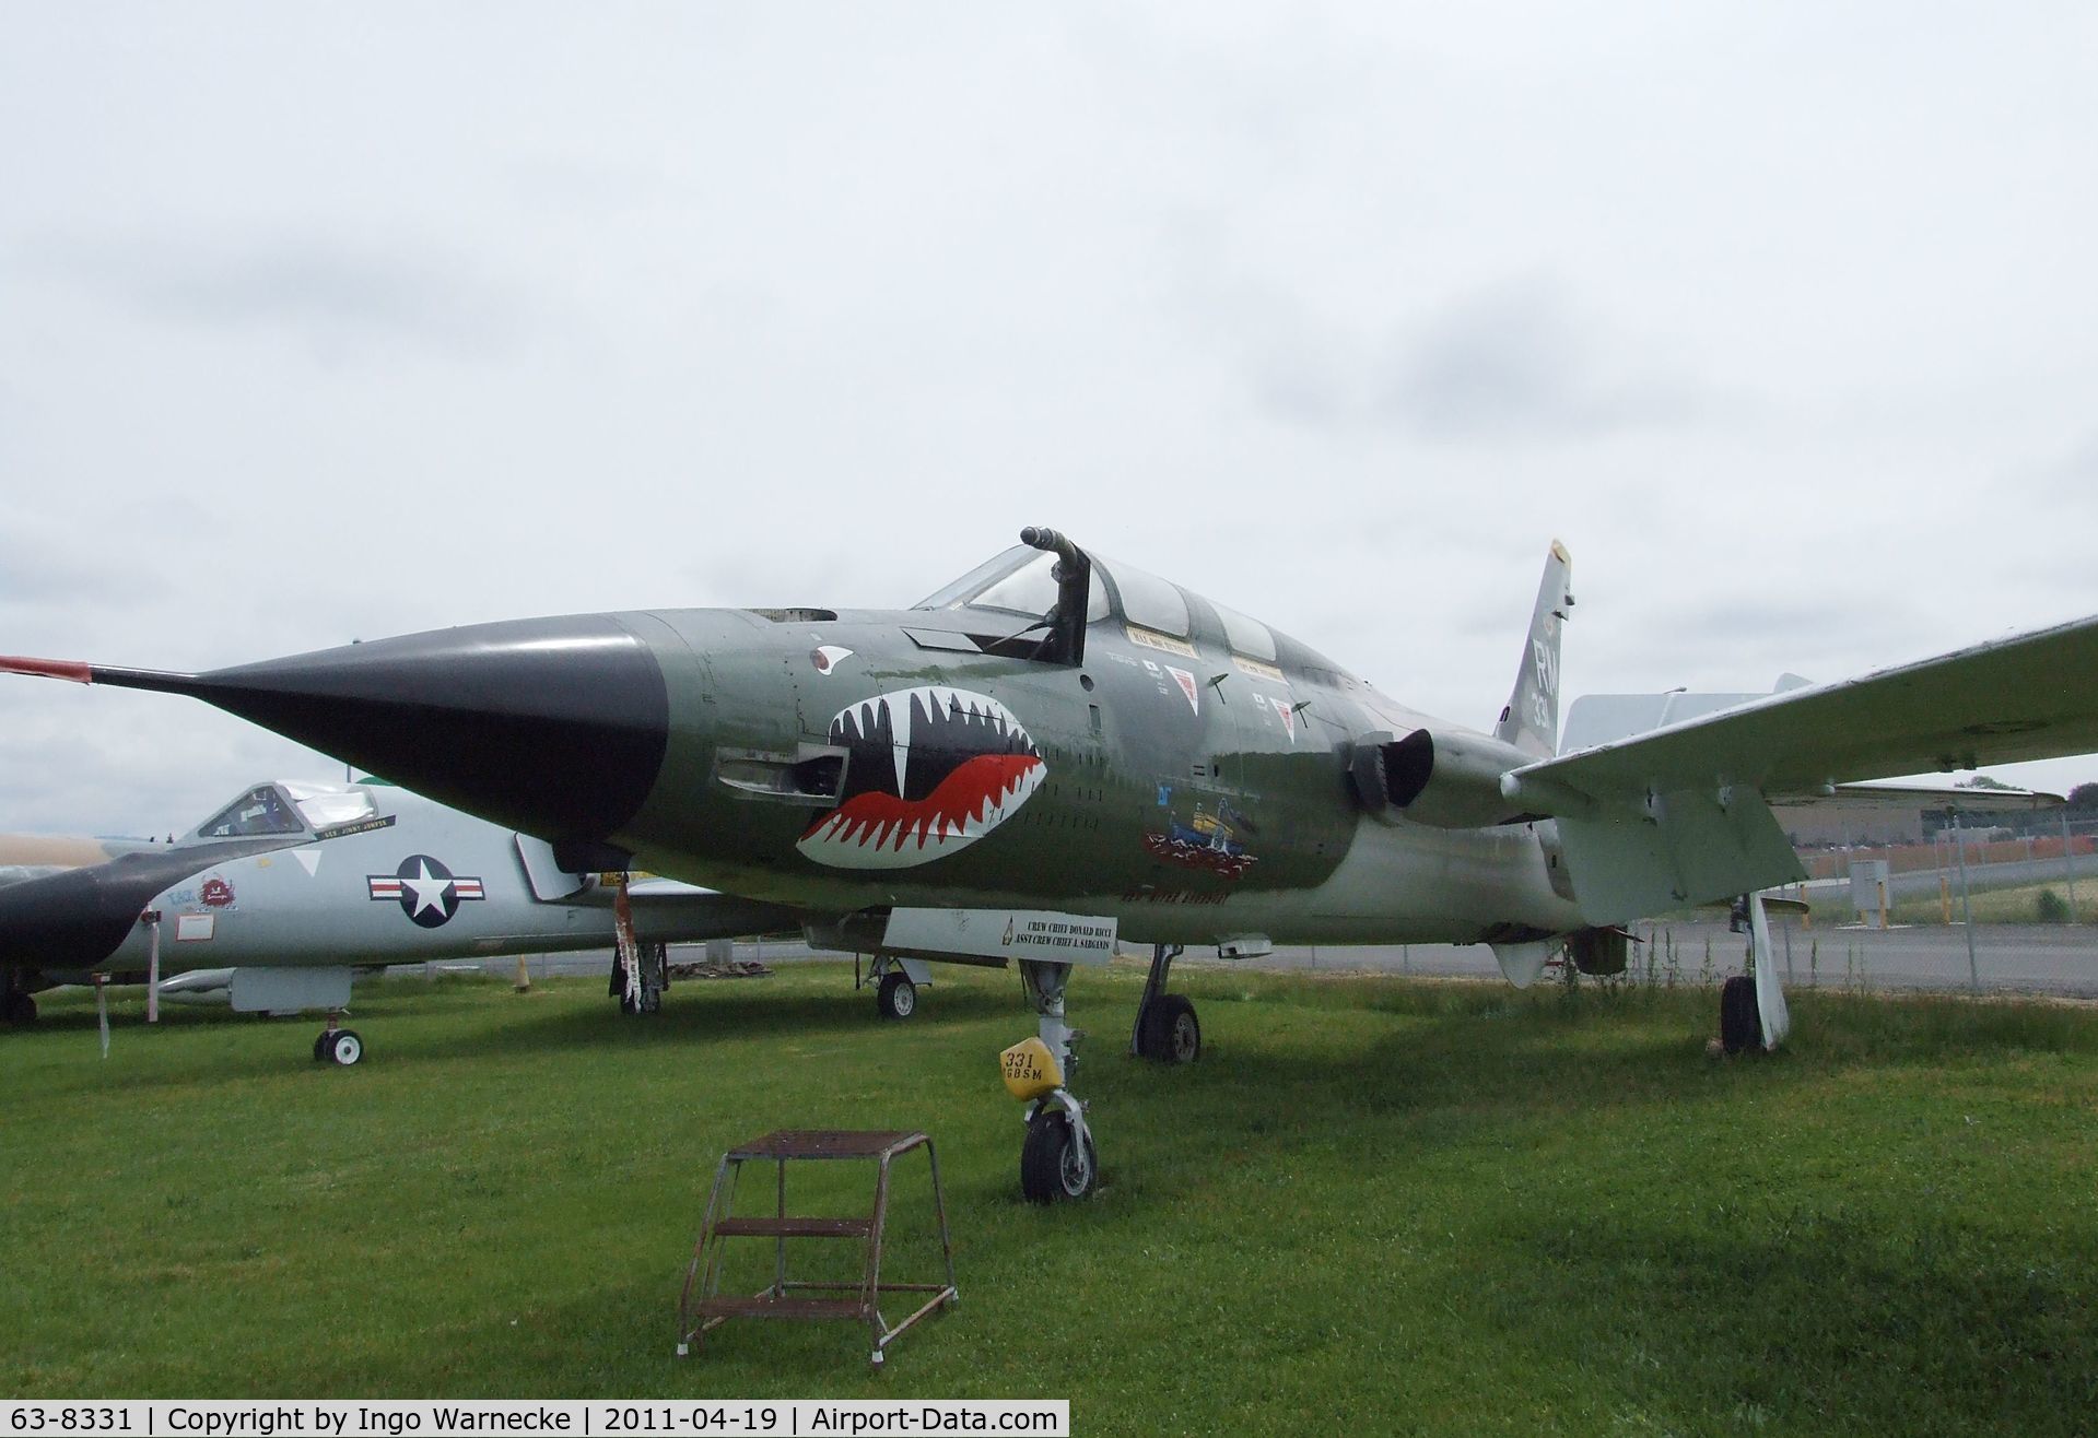
[{"label": "grey jet with white star insignia, behind the shark-mouthed jet", "polygon": [[[795,924],[787,910],[673,880],[621,895],[617,878],[562,870],[539,838],[369,782],[256,784],[180,843],[46,870],[0,887],[10,1023],[36,1017],[34,989],[94,973],[216,971],[237,1010],[334,1015],[352,964],[613,947],[621,903],[625,998],[652,1008],[665,943]],[[315,1059],[361,1056],[363,1040],[334,1019],[315,1040]]]}]

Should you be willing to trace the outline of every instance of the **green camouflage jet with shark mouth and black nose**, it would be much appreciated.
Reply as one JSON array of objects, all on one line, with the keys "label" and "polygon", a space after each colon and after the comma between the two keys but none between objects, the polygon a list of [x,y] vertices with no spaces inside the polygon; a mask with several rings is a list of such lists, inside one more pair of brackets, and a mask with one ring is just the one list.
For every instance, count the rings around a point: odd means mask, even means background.
[{"label": "green camouflage jet with shark mouth and black nose", "polygon": [[[1055,530],[908,610],[661,610],[474,625],[201,675],[0,660],[191,694],[579,868],[638,862],[883,950],[1015,958],[1039,1056],[1028,1197],[1076,1197],[1064,985],[1152,945],[1137,1048],[1194,1056],[1177,945],[1550,945],[1800,876],[1771,799],[2098,748],[2098,620],[1557,755],[1553,545],[1490,732],[1420,715],[1267,625]],[[1762,906],[1758,996],[1781,1002]],[[1047,1090],[1034,1077],[1053,1080]]]}]

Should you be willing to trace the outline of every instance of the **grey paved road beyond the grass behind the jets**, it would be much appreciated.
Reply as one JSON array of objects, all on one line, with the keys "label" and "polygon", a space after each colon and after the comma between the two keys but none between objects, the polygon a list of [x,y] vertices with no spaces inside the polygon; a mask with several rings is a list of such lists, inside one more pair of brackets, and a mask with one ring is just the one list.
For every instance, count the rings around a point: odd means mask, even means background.
[{"label": "grey paved road beyond the grass behind the jets", "polygon": [[[1636,924],[1641,939],[1651,935],[1655,968],[1666,968],[1668,947],[1674,945],[1674,962],[1680,975],[1695,981],[1704,968],[1706,943],[1712,945],[1712,966],[1716,973],[1735,973],[1741,962],[1746,939],[1727,933],[1725,920],[1689,924]],[[1915,929],[1802,929],[1798,922],[1777,924],[1771,935],[1779,960],[1790,945],[1790,983],[1842,987],[1863,981],[1871,987],[1894,989],[1962,989],[1968,987],[1968,945],[1966,929],[1915,927]],[[676,945],[671,962],[699,962],[703,945]],[[1647,950],[1636,950],[1641,966]],[[799,962],[810,958],[837,960],[839,954],[812,954],[804,943],[774,939],[766,943],[736,943],[736,958],[757,958],[768,964]],[[606,975],[611,954],[554,954],[527,960],[533,977],[543,975]],[[1187,960],[1198,966],[1219,964],[1215,956],[1202,958],[1198,952]],[[428,968],[449,968],[453,964],[430,964]],[[455,964],[457,968],[480,966],[487,973],[516,973],[514,958],[495,958],[485,964]],[[1414,943],[1385,947],[1280,947],[1269,958],[1244,960],[1246,968],[1273,973],[1416,973],[1416,975],[1471,975],[1498,977],[1500,966],[1494,952],[1483,945],[1456,943]],[[1976,924],[1974,927],[1974,968],[1985,989],[2031,992],[2031,994],[2073,994],[2098,998],[2098,929],[2043,927],[2043,924]],[[418,973],[401,968],[394,973]]]}]

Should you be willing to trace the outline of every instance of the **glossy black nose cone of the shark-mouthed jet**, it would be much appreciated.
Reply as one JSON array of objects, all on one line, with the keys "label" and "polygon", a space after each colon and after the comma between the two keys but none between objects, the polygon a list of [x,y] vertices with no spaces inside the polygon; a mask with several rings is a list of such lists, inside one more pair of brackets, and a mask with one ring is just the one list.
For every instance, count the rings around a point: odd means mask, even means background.
[{"label": "glossy black nose cone of the shark-mouthed jet", "polygon": [[197,675],[212,704],[543,838],[606,838],[648,799],[669,694],[613,614],[373,639]]}]

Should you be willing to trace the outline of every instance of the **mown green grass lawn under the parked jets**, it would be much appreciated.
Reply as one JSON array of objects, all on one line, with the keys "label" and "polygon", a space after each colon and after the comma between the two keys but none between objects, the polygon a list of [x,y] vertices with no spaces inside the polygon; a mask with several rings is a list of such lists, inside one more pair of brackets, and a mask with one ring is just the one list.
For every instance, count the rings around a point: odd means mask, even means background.
[{"label": "mown green grass lawn under the parked jets", "polygon": [[[92,998],[46,996],[0,1033],[0,1392],[1062,1396],[1083,1434],[2098,1421],[2092,1008],[1796,994],[1785,1052],[1716,1063],[1693,983],[1202,968],[1204,1059],[1162,1069],[1122,1056],[1139,985],[1072,983],[1104,1189],[1053,1210],[1018,1197],[997,1080],[1032,1031],[1013,975],[942,971],[906,1025],[833,964],[657,1019],[602,981],[359,985],[357,1069],[311,1063],[313,1021],[149,1031],[134,998],[105,1063]],[[671,1356],[713,1165],[783,1126],[940,1145],[961,1304],[881,1373],[833,1323]],[[898,1279],[932,1266],[911,1172]],[[797,1176],[797,1207],[864,1210],[869,1176]]]}]

